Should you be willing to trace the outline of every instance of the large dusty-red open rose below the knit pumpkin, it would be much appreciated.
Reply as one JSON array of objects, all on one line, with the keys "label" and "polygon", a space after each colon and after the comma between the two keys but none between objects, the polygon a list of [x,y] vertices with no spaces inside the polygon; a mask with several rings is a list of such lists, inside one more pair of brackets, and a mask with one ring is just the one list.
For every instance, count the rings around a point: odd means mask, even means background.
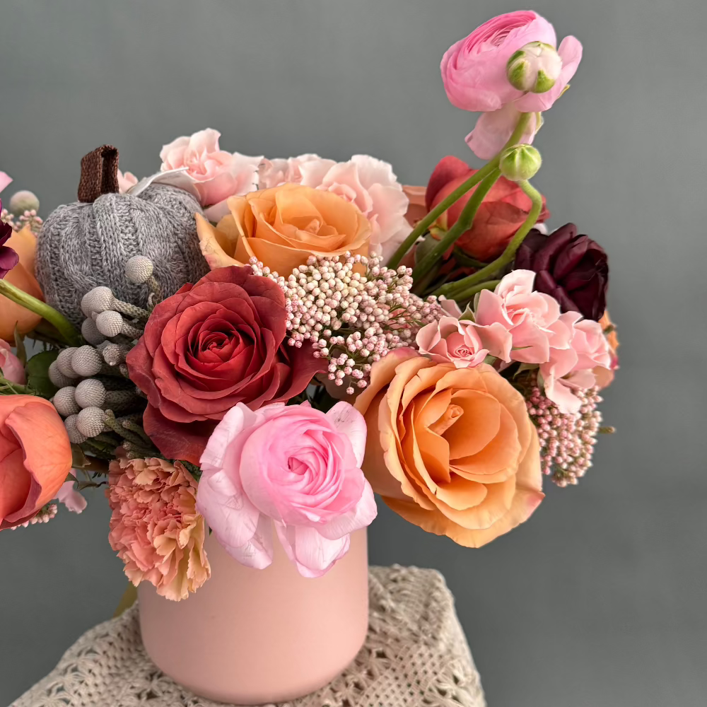
[{"label": "large dusty-red open rose below the knit pumpkin", "polygon": [[247,265],[212,270],[156,306],[127,366],[160,452],[197,464],[236,403],[257,409],[305,390],[322,359],[288,346],[285,322],[283,292]]}]

